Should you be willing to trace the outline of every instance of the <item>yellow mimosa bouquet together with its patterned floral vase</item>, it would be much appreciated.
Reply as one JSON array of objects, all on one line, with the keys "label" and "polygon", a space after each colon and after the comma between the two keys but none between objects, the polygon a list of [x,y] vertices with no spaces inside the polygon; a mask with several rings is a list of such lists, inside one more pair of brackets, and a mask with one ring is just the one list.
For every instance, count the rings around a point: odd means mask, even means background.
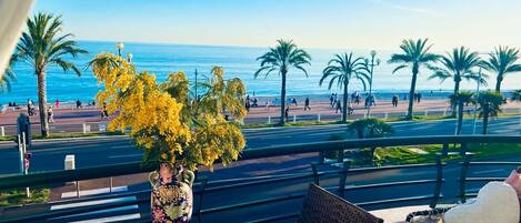
[{"label": "yellow mimosa bouquet together with its patterned floral vase", "polygon": [[129,131],[143,151],[143,164],[158,170],[149,176],[152,221],[189,222],[193,171],[212,171],[217,160],[227,165],[246,145],[238,124],[247,113],[244,84],[237,78],[226,81],[223,69],[214,67],[191,93],[183,72],[158,83],[154,74],[138,72],[112,53],[98,54],[89,65],[103,87],[98,104],[106,103],[113,115],[108,130]]}]

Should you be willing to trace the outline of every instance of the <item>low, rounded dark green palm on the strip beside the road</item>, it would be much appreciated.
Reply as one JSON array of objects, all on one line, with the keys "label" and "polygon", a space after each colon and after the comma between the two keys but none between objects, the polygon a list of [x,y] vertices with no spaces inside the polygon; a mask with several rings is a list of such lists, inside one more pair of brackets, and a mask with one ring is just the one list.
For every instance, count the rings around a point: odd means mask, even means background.
[{"label": "low, rounded dark green palm on the strip beside the road", "polygon": [[[348,125],[348,131],[357,133],[358,139],[381,138],[394,132],[390,124],[377,118],[358,119]],[[375,146],[371,148],[371,160],[374,160],[375,150]]]}]

